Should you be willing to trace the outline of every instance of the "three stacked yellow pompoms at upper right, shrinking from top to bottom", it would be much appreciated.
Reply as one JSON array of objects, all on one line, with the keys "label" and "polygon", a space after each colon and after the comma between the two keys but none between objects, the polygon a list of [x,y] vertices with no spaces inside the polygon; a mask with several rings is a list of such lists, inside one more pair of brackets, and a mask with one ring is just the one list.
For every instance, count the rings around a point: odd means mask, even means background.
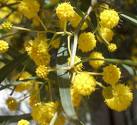
[{"label": "three stacked yellow pompoms at upper right, shrinking from top to bottom", "polygon": [[100,35],[107,42],[108,50],[115,52],[117,46],[115,43],[110,43],[113,39],[114,33],[112,28],[116,27],[119,23],[119,15],[115,10],[105,9],[100,13]]}]

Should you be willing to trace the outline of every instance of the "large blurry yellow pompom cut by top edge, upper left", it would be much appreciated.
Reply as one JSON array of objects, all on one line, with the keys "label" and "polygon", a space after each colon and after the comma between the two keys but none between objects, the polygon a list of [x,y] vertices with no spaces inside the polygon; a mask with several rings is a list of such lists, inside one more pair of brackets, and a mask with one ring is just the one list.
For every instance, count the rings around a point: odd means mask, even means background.
[{"label": "large blurry yellow pompom cut by top edge, upper left", "polygon": [[37,0],[22,0],[18,6],[19,12],[31,19],[39,12],[40,5]]}]

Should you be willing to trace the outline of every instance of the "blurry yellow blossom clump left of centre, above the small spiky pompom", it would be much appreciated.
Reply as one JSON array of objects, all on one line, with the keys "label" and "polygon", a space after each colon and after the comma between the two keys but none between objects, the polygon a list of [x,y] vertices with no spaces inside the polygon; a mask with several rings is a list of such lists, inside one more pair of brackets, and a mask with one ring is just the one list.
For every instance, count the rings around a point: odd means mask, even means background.
[{"label": "blurry yellow blossom clump left of centre, above the small spiky pompom", "polygon": [[36,65],[48,65],[50,63],[46,38],[36,37],[34,41],[25,42],[25,50]]}]

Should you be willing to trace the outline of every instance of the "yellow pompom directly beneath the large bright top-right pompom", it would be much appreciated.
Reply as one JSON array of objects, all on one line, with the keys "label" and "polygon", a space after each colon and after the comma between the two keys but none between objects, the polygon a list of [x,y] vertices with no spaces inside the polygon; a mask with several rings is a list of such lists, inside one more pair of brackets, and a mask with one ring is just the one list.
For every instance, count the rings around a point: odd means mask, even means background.
[{"label": "yellow pompom directly beneath the large bright top-right pompom", "polygon": [[100,34],[101,34],[102,38],[108,42],[112,41],[112,38],[114,35],[113,31],[109,28],[106,28],[106,27],[100,28]]}]

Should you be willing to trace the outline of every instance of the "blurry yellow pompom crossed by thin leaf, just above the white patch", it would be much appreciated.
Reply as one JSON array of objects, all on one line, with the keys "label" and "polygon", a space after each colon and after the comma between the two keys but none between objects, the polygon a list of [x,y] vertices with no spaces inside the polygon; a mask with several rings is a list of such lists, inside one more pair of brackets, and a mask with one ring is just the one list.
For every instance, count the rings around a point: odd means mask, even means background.
[{"label": "blurry yellow pompom crossed by thin leaf, just above the white patch", "polygon": [[[20,73],[18,76],[18,80],[25,80],[25,79],[29,79],[30,77],[32,77],[32,75],[28,72],[22,72]],[[16,85],[15,91],[16,92],[22,92],[24,90],[30,90],[32,87],[32,81],[28,80],[25,82],[21,82],[20,84]]]}]

